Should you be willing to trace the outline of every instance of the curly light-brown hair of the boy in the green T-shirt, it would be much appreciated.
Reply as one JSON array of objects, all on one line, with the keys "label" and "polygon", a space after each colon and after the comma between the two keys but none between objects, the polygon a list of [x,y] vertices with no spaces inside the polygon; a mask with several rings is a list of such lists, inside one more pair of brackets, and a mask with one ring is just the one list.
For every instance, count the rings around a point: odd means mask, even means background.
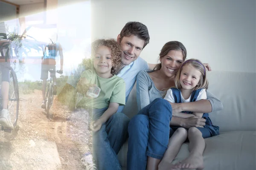
[{"label": "curly light-brown hair of the boy in the green T-shirt", "polygon": [[116,40],[114,40],[114,39],[96,40],[92,43],[92,55],[91,55],[92,58],[93,58],[93,56],[95,56],[97,49],[102,45],[105,45],[106,47],[111,49],[111,56],[112,56],[112,58],[111,58],[111,61],[112,61],[111,74],[117,74],[122,66],[121,46],[119,44],[117,44]]}]

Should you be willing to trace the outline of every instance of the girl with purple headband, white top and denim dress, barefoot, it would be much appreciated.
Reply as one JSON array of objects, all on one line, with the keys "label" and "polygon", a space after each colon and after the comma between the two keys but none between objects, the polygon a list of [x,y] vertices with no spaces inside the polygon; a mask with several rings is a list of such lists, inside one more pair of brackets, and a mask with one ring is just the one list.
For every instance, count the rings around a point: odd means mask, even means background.
[{"label": "girl with purple headband, white top and denim dress, barefoot", "polygon": [[[176,88],[170,88],[164,99],[171,103],[195,102],[201,99],[207,99],[206,90],[208,81],[204,65],[198,59],[189,59],[180,66],[175,77]],[[204,127],[190,127],[185,129],[178,126],[170,126],[170,130],[175,131],[169,139],[168,149],[162,159],[162,163],[170,163],[180,150],[181,145],[186,139],[189,139],[189,157],[185,160],[171,165],[173,169],[203,169],[203,152],[205,148],[204,138],[219,134],[219,127],[212,125],[208,113],[180,112],[172,113],[172,116],[180,118],[189,118],[198,116],[206,119]],[[195,147],[197,146],[197,147]],[[191,150],[191,148],[194,148]],[[168,158],[166,160],[165,158]],[[161,167],[161,163],[160,163]],[[164,169],[164,168],[163,168]],[[170,169],[170,167],[168,168]]]}]

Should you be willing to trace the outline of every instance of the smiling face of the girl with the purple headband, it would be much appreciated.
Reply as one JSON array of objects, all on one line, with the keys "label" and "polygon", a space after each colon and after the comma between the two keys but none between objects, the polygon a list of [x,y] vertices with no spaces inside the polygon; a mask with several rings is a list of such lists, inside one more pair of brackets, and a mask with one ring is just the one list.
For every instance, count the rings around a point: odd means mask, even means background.
[{"label": "smiling face of the girl with the purple headband", "polygon": [[180,72],[180,85],[184,90],[191,90],[198,85],[202,73],[192,65],[184,65]]}]

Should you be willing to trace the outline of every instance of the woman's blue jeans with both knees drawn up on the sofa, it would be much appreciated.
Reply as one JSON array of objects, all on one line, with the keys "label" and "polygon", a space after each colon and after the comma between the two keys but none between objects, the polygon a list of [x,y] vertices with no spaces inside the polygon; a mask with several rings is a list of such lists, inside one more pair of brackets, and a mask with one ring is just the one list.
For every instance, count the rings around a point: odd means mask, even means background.
[{"label": "woman's blue jeans with both knees drawn up on the sofa", "polygon": [[145,170],[147,157],[162,159],[169,142],[172,106],[157,98],[128,125],[127,170]]}]

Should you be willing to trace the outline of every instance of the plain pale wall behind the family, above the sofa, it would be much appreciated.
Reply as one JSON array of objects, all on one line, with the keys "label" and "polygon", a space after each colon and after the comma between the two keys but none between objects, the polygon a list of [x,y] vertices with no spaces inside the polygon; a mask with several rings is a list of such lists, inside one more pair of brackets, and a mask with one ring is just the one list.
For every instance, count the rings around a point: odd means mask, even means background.
[{"label": "plain pale wall behind the family, above the sofa", "polygon": [[144,23],[141,57],[156,63],[163,45],[182,42],[188,58],[213,70],[256,72],[255,0],[91,0],[92,40],[116,38],[128,21]]}]

